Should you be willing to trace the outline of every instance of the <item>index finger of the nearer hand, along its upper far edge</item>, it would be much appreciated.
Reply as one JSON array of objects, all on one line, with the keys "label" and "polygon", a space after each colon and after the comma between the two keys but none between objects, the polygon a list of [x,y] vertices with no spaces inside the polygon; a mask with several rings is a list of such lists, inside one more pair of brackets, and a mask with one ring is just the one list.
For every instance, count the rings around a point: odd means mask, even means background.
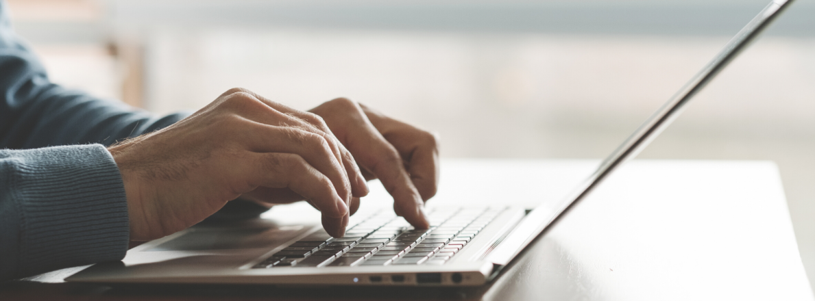
[{"label": "index finger of the nearer hand, along its upper far edge", "polygon": [[[348,161],[345,156],[350,157],[350,152],[346,150],[346,147],[342,145],[337,140],[337,137],[334,136],[331,129],[328,128],[328,124],[325,124],[324,120],[316,116],[315,114],[307,111],[300,111],[294,109],[292,107],[285,106],[281,103],[276,103],[269,98],[264,98],[262,95],[254,94],[252,91],[247,89],[239,89],[245,94],[252,96],[253,99],[257,99],[259,102],[264,103],[267,107],[271,108],[271,111],[279,111],[283,113],[285,117],[282,117],[286,122],[290,122],[293,124],[297,124],[300,126],[307,126],[310,130],[314,133],[326,133],[327,137],[326,140],[332,146],[335,155],[337,156],[337,160],[341,161],[343,168],[346,168],[346,172],[348,174],[348,178],[351,179],[350,187],[351,187],[351,194],[356,197],[362,197],[368,194],[368,183],[365,181],[362,173],[359,172],[359,168],[353,161]],[[258,121],[258,120],[255,120]],[[258,121],[261,122],[261,121]],[[276,125],[276,124],[273,124]],[[353,158],[353,157],[350,157]],[[346,201],[350,202],[350,198],[346,199]]]}]

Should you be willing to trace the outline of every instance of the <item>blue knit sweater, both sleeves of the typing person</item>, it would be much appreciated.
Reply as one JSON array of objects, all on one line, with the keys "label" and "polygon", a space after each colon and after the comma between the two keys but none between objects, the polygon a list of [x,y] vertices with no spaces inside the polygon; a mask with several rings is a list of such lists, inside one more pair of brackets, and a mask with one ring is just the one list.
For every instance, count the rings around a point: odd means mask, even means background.
[{"label": "blue knit sweater, both sleeves of the typing person", "polygon": [[0,280],[121,260],[127,204],[105,146],[183,116],[52,84],[6,8],[0,1]]}]

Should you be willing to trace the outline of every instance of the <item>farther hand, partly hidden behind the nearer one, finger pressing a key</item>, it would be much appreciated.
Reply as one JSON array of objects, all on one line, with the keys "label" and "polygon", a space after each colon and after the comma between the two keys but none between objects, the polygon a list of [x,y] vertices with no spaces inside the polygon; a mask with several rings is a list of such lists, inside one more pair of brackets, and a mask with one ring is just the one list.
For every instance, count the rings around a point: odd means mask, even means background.
[{"label": "farther hand, partly hidden behind the nearer one, finger pressing a key", "polygon": [[[394,211],[417,228],[430,224],[423,210],[438,185],[436,137],[377,111],[337,98],[310,110],[322,116],[355,156],[365,177],[379,178],[394,197]],[[351,212],[359,207],[352,198]]]}]

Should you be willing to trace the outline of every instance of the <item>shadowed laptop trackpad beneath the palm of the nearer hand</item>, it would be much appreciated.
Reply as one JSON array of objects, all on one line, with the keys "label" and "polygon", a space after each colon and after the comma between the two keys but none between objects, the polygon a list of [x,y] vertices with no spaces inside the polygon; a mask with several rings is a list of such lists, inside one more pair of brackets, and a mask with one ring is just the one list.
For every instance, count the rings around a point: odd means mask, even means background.
[{"label": "shadowed laptop trackpad beneath the palm of the nearer hand", "polygon": [[302,226],[280,228],[189,229],[147,251],[206,251],[268,248],[293,238]]}]

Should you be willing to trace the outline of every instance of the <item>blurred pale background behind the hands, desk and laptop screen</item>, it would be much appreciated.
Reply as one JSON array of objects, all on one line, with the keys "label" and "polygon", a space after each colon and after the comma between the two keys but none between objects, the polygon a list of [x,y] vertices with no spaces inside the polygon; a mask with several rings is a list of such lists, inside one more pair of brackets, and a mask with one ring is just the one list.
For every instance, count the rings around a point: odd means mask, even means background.
[{"label": "blurred pale background behind the hands, desk and laptop screen", "polygon": [[[63,85],[158,113],[236,86],[300,109],[343,96],[439,133],[444,157],[476,158],[607,155],[768,2],[8,1]],[[815,0],[641,158],[777,162],[812,281]]]}]

